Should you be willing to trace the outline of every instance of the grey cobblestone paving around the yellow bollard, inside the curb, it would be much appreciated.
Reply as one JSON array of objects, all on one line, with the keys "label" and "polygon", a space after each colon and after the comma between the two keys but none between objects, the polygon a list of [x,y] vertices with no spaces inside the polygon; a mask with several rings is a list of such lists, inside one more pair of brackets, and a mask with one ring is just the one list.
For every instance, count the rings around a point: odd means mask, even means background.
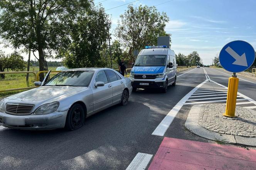
[{"label": "grey cobblestone paving around the yellow bollard, inside the curb", "polygon": [[224,117],[226,105],[204,104],[199,113],[198,124],[220,134],[256,137],[256,114],[249,109],[236,107],[238,117]]}]

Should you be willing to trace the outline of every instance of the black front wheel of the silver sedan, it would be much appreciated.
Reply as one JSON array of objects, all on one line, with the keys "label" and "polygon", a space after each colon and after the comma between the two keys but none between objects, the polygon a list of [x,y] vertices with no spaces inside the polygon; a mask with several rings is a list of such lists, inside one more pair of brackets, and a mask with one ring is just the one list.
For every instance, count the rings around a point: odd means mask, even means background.
[{"label": "black front wheel of the silver sedan", "polygon": [[65,129],[76,130],[84,125],[85,111],[81,104],[74,104],[67,113]]}]

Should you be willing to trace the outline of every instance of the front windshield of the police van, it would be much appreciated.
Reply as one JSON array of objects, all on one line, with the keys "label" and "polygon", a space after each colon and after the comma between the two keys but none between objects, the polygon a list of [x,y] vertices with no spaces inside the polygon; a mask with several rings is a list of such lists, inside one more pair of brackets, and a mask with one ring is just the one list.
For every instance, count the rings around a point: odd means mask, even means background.
[{"label": "front windshield of the police van", "polygon": [[166,55],[140,55],[134,66],[165,66]]}]

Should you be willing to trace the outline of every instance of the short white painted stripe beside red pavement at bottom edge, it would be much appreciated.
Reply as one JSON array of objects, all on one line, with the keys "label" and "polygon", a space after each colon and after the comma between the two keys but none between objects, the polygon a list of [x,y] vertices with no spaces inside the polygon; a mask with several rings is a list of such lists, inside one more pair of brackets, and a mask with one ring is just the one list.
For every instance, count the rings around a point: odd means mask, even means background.
[{"label": "short white painted stripe beside red pavement at bottom edge", "polygon": [[153,155],[137,153],[126,170],[145,170]]}]

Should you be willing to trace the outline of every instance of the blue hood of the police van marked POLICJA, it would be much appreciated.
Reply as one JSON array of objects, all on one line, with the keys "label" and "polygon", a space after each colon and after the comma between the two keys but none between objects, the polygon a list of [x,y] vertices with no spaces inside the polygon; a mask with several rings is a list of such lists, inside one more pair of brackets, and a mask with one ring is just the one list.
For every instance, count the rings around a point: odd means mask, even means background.
[{"label": "blue hood of the police van marked POLICJA", "polygon": [[158,74],[163,73],[165,66],[134,66],[131,73],[134,74]]}]

